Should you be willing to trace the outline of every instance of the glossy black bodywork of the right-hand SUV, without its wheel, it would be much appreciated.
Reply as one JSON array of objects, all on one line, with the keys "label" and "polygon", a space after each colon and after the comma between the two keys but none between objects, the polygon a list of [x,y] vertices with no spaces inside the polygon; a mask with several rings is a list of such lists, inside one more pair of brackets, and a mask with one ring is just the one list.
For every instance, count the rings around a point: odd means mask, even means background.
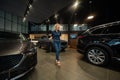
[{"label": "glossy black bodywork of the right-hand SUV, without its wheel", "polygon": [[120,59],[120,21],[90,28],[78,36],[78,51],[85,53],[92,46],[101,47],[111,58]]}]

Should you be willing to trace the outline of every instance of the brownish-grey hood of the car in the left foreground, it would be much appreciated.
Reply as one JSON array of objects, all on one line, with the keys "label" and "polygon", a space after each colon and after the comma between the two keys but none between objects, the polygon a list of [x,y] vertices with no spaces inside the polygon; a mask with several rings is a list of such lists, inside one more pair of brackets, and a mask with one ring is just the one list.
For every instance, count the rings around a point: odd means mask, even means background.
[{"label": "brownish-grey hood of the car in the left foreground", "polygon": [[19,40],[2,40],[0,41],[0,56],[20,54],[26,47],[26,42]]}]

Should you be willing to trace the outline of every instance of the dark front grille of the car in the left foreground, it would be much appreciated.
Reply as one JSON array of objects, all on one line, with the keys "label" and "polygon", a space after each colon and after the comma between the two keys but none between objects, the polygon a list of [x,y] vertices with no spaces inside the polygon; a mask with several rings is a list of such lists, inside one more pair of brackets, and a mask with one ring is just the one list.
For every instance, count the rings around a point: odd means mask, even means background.
[{"label": "dark front grille of the car in the left foreground", "polygon": [[8,70],[17,65],[22,59],[22,54],[0,56],[0,72]]}]

